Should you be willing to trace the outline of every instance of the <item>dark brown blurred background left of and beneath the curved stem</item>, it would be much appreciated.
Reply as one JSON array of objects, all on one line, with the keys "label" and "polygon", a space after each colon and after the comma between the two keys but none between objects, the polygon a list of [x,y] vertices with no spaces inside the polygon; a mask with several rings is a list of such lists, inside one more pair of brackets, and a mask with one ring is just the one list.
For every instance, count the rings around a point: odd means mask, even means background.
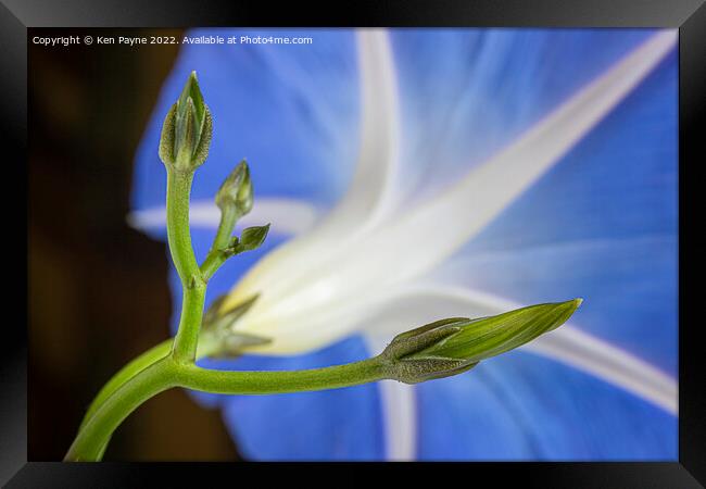
[{"label": "dark brown blurred background left of and beneath the curved stem", "polygon": [[[179,48],[31,38],[180,34],[29,29],[29,461],[62,460],[102,385],[169,335],[165,244],[125,216],[135,149]],[[104,457],[237,459],[219,414],[176,389],[129,416]]]}]

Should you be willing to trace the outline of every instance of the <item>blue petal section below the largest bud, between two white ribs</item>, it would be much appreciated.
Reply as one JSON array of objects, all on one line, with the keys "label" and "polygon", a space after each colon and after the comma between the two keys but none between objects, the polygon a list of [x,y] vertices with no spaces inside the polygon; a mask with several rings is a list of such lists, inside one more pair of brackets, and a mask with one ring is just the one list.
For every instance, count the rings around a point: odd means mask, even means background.
[{"label": "blue petal section below the largest bud, between two white ribs", "polygon": [[418,386],[421,460],[675,461],[677,418],[595,377],[514,351]]}]

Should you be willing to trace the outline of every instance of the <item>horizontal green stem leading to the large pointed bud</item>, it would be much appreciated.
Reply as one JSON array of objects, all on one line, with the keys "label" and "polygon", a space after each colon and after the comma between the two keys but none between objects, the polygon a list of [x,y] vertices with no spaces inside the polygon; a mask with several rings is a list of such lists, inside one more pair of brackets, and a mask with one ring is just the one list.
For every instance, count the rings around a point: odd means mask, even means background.
[{"label": "horizontal green stem leading to the large pointed bud", "polygon": [[223,394],[273,394],[338,389],[386,377],[379,358],[307,371],[226,372],[179,365],[177,383],[188,389]]}]

